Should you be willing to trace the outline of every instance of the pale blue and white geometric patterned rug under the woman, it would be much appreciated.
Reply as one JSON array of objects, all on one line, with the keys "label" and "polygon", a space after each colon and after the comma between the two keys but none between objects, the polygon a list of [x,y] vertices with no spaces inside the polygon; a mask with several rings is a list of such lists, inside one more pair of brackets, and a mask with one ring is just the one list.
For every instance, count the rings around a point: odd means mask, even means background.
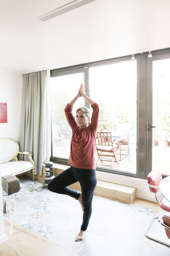
[{"label": "pale blue and white geometric patterned rug under the woman", "polygon": [[[78,255],[170,255],[170,247],[145,236],[152,218],[162,215],[162,212],[94,196],[87,235],[83,241],[74,242],[82,222],[79,202],[52,193],[47,187],[43,189],[43,184],[38,181],[22,179],[20,183],[19,193],[5,196],[3,192],[6,201],[4,216]],[[149,235],[158,233],[170,242],[160,224],[148,232]]]}]

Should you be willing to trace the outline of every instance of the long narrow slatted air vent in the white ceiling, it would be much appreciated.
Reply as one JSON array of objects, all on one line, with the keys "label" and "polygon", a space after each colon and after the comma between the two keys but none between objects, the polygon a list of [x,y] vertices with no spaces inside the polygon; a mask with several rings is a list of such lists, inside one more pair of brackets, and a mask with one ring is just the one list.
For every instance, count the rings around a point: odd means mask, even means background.
[{"label": "long narrow slatted air vent in the white ceiling", "polygon": [[64,5],[64,6],[58,8],[58,9],[56,9],[54,11],[52,11],[52,12],[48,12],[48,13],[38,17],[37,19],[41,20],[41,21],[47,21],[49,19],[53,19],[56,16],[65,13],[65,12],[69,12],[69,11],[71,11],[71,10],[73,10],[75,8],[78,8],[78,7],[80,7],[80,6],[84,5],[84,4],[88,4],[88,3],[94,2],[94,1],[96,1],[96,0],[77,0],[77,1],[74,1],[74,2],[72,2],[70,4],[66,4],[66,5]]}]

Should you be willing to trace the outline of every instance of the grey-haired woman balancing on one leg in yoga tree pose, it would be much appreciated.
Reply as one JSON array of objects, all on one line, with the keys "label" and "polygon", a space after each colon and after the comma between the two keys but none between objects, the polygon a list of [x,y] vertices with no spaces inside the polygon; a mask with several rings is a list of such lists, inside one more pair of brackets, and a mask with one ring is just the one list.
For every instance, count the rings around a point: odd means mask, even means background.
[{"label": "grey-haired woman balancing on one leg in yoga tree pose", "polygon": [[[74,118],[72,114],[73,105],[80,97],[86,99],[91,105],[93,109],[92,116],[90,109],[80,107],[77,110],[76,118]],[[48,183],[48,189],[58,194],[69,195],[79,201],[83,211],[83,222],[79,234],[75,237],[75,241],[82,241],[86,235],[91,217],[92,198],[97,183],[95,145],[99,120],[99,106],[86,95],[83,91],[83,84],[81,84],[78,94],[67,104],[64,111],[67,122],[72,129],[71,150],[68,162],[71,167],[51,180]],[[88,125],[90,118],[91,123]],[[77,181],[80,182],[81,193],[67,187]]]}]

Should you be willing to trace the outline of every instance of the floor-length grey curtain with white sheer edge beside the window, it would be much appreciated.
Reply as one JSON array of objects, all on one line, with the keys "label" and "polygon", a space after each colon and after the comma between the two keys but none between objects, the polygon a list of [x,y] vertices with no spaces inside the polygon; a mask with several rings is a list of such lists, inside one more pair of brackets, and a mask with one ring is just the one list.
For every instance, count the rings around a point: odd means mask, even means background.
[{"label": "floor-length grey curtain with white sheer edge beside the window", "polygon": [[[23,75],[20,151],[29,151],[35,174],[51,156],[50,71]],[[27,156],[21,156],[27,159]]]}]

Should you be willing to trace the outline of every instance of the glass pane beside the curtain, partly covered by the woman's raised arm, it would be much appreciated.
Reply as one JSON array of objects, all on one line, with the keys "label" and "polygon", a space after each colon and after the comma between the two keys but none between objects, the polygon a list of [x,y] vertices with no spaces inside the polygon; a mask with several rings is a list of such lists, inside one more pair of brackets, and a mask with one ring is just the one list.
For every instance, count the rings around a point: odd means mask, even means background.
[{"label": "glass pane beside the curtain, partly covered by the woman's raised arm", "polygon": [[[83,83],[83,73],[51,78],[52,91],[52,144],[53,156],[69,158],[72,130],[67,123],[64,108],[79,91]],[[79,98],[73,108],[73,114],[83,106],[83,98]]]}]

